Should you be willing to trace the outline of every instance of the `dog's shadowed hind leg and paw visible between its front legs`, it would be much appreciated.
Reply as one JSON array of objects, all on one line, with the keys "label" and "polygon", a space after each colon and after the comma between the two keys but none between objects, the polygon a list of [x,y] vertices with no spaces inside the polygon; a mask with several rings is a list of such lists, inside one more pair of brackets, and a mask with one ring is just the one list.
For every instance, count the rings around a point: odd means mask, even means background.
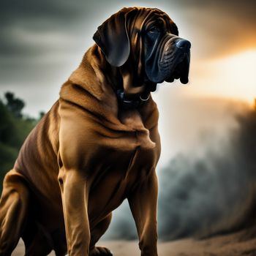
[{"label": "dog's shadowed hind leg and paw visible between its front legs", "polygon": [[91,243],[90,243],[90,253],[89,256],[110,256],[112,253],[108,248],[102,246],[95,246],[99,238],[103,236],[110,225],[112,218],[112,213],[108,214],[105,219],[102,219],[95,227],[91,230]]}]

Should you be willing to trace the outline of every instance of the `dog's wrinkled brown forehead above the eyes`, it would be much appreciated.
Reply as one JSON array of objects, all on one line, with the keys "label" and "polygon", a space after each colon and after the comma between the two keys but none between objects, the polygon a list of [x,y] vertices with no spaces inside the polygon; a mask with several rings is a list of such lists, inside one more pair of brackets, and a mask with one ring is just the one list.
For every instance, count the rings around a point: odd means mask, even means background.
[{"label": "dog's wrinkled brown forehead above the eyes", "polygon": [[134,7],[127,12],[127,30],[130,32],[145,31],[155,23],[162,23],[167,31],[178,33],[173,31],[173,20],[157,8]]}]

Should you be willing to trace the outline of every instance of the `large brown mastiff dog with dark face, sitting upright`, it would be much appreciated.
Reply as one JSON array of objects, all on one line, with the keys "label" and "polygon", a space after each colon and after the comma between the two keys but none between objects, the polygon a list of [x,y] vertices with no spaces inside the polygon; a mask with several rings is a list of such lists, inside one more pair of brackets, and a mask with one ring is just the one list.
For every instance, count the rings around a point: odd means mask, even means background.
[{"label": "large brown mastiff dog with dark face, sitting upright", "polygon": [[[61,88],[4,178],[0,255],[111,255],[95,244],[127,198],[141,255],[157,255],[157,83],[187,83],[190,43],[162,11],[124,8]],[[67,241],[66,241],[67,238]]]}]

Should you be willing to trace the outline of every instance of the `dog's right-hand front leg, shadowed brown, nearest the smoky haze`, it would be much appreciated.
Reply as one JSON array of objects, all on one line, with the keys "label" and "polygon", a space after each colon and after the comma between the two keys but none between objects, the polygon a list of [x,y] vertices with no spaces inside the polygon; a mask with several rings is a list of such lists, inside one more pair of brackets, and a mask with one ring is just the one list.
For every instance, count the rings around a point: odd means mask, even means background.
[{"label": "dog's right-hand front leg, shadowed brown, nearest the smoky haze", "polygon": [[128,197],[142,256],[157,256],[157,187],[153,171]]}]

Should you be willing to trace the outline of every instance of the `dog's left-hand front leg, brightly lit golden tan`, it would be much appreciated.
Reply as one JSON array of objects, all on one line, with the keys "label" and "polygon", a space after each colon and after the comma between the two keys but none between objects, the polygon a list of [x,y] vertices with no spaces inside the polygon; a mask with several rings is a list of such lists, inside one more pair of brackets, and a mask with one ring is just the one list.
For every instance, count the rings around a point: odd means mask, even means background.
[{"label": "dog's left-hand front leg, brightly lit golden tan", "polygon": [[87,211],[86,178],[78,170],[59,172],[69,256],[88,256],[90,228]]}]

